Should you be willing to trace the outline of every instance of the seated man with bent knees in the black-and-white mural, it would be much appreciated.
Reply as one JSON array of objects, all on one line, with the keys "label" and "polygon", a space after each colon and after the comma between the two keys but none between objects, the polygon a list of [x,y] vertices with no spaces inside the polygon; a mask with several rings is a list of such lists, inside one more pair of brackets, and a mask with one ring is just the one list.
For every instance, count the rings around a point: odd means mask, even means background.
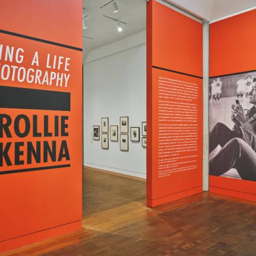
[{"label": "seated man with bent knees in the black-and-white mural", "polygon": [[249,102],[254,106],[247,114],[238,103],[232,107],[233,130],[217,123],[210,132],[210,153],[221,146],[210,161],[210,175],[220,176],[235,168],[242,179],[256,181],[256,85],[249,93]]}]

